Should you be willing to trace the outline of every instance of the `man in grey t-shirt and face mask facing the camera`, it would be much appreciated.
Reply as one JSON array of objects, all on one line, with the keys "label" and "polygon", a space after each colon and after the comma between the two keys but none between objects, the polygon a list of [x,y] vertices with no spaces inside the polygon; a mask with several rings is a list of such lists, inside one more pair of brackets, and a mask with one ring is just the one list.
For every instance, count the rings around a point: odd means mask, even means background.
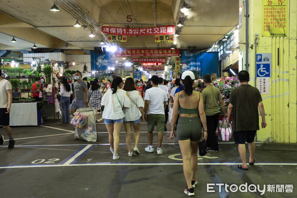
[{"label": "man in grey t-shirt and face mask facing the camera", "polygon": [[82,81],[82,73],[80,71],[76,71],[75,80],[73,100],[70,106],[70,113],[72,115],[76,109],[85,108],[88,105],[88,86]]}]

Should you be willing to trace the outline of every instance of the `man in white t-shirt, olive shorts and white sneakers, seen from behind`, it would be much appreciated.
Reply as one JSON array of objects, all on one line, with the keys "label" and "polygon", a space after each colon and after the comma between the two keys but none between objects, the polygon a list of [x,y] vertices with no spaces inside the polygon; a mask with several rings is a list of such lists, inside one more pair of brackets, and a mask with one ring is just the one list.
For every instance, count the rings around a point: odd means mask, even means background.
[{"label": "man in white t-shirt, olive shorts and white sneakers, seen from behind", "polygon": [[[165,122],[165,109],[167,104],[167,95],[164,90],[158,88],[159,78],[152,76],[150,81],[152,88],[146,90],[145,95],[145,120],[148,125],[148,147],[145,149],[147,152],[153,152],[152,139],[153,129],[156,125],[158,132],[158,147],[157,154],[162,154],[161,148],[163,141],[163,131]],[[167,89],[167,87],[166,87]],[[167,89],[168,92],[168,89]]]}]

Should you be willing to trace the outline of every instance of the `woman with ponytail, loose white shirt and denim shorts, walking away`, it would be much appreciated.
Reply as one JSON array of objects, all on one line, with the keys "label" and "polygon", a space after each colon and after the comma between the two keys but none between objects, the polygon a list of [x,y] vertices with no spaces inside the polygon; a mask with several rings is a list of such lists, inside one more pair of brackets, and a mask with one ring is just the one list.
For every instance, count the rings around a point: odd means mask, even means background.
[{"label": "woman with ponytail, loose white shirt and denim shorts, walking away", "polygon": [[126,91],[121,90],[123,79],[119,76],[112,81],[111,89],[104,94],[101,105],[104,105],[102,118],[109,135],[110,151],[113,154],[112,159],[120,158],[118,155],[120,130],[125,114],[123,108],[130,107],[130,99],[126,95]]}]

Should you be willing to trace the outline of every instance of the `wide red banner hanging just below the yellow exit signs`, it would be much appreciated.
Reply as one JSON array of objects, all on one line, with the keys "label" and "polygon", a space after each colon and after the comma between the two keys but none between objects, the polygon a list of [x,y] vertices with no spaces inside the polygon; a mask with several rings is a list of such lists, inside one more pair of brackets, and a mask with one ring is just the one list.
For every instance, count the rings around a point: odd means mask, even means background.
[{"label": "wide red banner hanging just below the yellow exit signs", "polygon": [[117,57],[123,56],[179,56],[179,49],[123,49],[116,52]]}]

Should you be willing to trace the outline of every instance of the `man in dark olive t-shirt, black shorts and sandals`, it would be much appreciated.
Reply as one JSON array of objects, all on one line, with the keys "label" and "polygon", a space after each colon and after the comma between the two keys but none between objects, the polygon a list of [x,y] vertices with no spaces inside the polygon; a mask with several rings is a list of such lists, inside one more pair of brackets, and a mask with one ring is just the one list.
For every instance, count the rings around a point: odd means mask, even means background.
[{"label": "man in dark olive t-shirt, black shorts and sandals", "polygon": [[262,128],[266,127],[265,110],[262,102],[262,97],[257,88],[248,84],[249,74],[247,71],[242,70],[238,73],[238,78],[241,86],[235,88],[230,96],[230,103],[228,106],[228,119],[233,113],[232,131],[235,144],[238,144],[238,151],[243,161],[242,165],[238,165],[239,169],[248,170],[246,159],[246,141],[249,150],[249,165],[255,162],[255,142],[254,138],[256,131],[259,130],[259,111],[262,117]]}]

